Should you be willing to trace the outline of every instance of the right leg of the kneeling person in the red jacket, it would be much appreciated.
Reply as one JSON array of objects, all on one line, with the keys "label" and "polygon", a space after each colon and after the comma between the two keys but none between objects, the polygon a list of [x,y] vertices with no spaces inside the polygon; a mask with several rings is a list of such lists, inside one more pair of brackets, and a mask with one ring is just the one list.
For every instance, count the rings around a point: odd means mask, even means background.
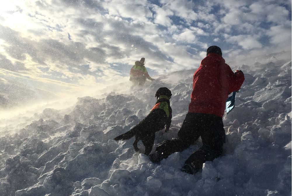
[{"label": "right leg of the kneeling person in the red jacket", "polygon": [[193,174],[203,167],[206,161],[213,161],[222,153],[222,146],[225,142],[225,130],[222,118],[214,115],[205,115],[203,118],[201,138],[203,146],[194,151],[185,161],[183,171]]}]

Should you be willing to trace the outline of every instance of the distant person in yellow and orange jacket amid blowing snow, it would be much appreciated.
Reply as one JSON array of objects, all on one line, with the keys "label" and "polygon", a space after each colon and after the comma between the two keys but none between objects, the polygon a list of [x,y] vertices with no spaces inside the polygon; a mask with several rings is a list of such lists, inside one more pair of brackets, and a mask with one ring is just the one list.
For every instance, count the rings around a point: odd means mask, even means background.
[{"label": "distant person in yellow and orange jacket amid blowing snow", "polygon": [[135,65],[131,68],[130,81],[134,85],[143,86],[146,81],[146,78],[148,80],[154,80],[153,78],[149,76],[144,62],[145,62],[145,58],[141,58],[141,60],[136,61]]}]

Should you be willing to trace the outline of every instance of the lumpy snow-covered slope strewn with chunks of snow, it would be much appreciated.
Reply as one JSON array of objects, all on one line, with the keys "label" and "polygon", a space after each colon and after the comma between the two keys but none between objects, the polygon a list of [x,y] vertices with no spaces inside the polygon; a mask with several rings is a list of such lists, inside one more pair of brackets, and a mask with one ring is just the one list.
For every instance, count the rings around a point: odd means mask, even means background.
[{"label": "lumpy snow-covered slope strewn with chunks of snow", "polygon": [[291,195],[291,57],[233,69],[241,69],[246,79],[236,107],[223,117],[224,152],[201,172],[180,171],[200,140],[153,164],[135,153],[134,138],[112,139],[149,113],[156,90],[164,86],[173,94],[172,126],[167,133],[157,132],[152,150],[176,137],[195,71],[184,70],[147,81],[140,89],[117,84],[113,92],[104,91],[104,98],[82,97],[67,109],[46,108],[7,121],[0,130],[1,195]]}]

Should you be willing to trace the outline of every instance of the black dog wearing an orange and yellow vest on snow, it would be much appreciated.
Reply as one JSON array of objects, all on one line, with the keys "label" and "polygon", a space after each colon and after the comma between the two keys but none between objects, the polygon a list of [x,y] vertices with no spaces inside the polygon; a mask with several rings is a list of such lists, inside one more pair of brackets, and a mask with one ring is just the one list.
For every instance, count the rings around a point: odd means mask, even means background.
[{"label": "black dog wearing an orange and yellow vest on snow", "polygon": [[135,151],[140,152],[137,144],[138,141],[142,140],[142,143],[145,146],[145,155],[149,155],[154,144],[155,132],[163,129],[164,126],[166,127],[165,131],[168,131],[170,127],[172,110],[169,99],[171,98],[171,95],[171,91],[168,88],[159,88],[155,94],[157,102],[150,113],[130,131],[121,134],[114,139],[127,140],[135,136],[136,139],[133,143]]}]

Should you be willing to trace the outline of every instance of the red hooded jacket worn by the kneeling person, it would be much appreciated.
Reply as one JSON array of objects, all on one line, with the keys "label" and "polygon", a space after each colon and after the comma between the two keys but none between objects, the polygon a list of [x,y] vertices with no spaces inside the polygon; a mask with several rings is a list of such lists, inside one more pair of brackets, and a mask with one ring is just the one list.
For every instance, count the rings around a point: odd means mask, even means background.
[{"label": "red hooded jacket worn by the kneeling person", "polygon": [[234,74],[225,60],[209,53],[194,73],[189,112],[213,114],[223,117],[228,95],[240,89],[244,74]]}]

